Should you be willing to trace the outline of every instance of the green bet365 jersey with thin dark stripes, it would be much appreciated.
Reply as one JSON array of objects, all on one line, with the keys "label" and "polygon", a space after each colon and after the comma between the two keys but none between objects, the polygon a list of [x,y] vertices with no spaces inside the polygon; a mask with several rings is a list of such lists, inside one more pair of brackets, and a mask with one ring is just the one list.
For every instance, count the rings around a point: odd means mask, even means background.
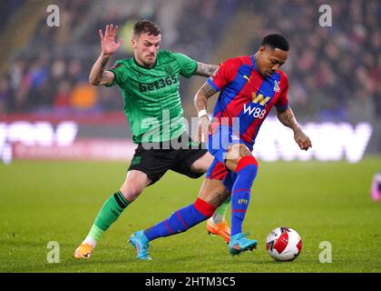
[{"label": "green bet365 jersey with thin dark stripes", "polygon": [[196,68],[187,55],[170,51],[160,51],[150,69],[133,58],[115,62],[109,70],[115,75],[111,85],[119,85],[122,92],[134,143],[168,141],[185,131],[179,76],[188,78]]}]

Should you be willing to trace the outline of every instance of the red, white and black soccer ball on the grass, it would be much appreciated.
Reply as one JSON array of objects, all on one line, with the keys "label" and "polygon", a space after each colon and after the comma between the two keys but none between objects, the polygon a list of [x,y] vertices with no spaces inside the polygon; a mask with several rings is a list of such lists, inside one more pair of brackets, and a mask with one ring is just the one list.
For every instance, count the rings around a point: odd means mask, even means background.
[{"label": "red, white and black soccer ball on the grass", "polygon": [[266,247],[276,261],[292,261],[300,254],[302,241],[294,229],[277,227],[266,238]]}]

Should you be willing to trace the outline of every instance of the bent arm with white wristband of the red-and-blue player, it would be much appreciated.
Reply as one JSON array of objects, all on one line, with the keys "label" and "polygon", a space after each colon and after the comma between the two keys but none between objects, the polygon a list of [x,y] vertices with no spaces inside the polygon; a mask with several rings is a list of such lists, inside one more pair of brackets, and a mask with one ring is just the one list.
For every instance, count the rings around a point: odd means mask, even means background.
[{"label": "bent arm with white wristband of the red-and-blue player", "polygon": [[197,91],[196,95],[194,96],[194,105],[199,117],[198,134],[195,137],[195,140],[198,142],[204,142],[205,138],[207,138],[210,133],[211,125],[206,109],[208,105],[208,99],[216,92],[217,91],[214,90],[208,82],[205,82],[205,84],[200,87],[200,90]]}]

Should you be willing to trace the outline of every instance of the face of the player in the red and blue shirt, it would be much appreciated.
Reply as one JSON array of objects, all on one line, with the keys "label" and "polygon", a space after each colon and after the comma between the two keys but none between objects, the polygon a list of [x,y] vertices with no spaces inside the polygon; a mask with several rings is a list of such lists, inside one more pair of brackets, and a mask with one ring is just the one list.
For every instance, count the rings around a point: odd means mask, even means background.
[{"label": "face of the player in the red and blue shirt", "polygon": [[269,46],[260,46],[258,52],[258,69],[260,74],[270,76],[278,71],[288,57],[288,52],[281,49],[271,49]]}]

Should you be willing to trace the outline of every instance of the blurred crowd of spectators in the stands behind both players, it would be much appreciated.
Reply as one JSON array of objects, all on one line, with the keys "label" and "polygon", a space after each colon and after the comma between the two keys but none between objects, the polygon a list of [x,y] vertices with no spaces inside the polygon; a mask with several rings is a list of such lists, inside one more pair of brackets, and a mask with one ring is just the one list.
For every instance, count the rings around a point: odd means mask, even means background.
[{"label": "blurred crowd of spectators in the stands behind both players", "polygon": [[[1,9],[2,26],[12,22],[15,11],[24,2],[2,1],[6,6]],[[331,27],[318,25],[318,7],[323,4],[332,7]],[[117,88],[94,87],[87,82],[100,53],[98,29],[109,23],[120,25],[119,36],[124,39],[124,45],[113,60],[132,55],[132,25],[138,19],[149,18],[161,25],[162,49],[211,63],[215,48],[226,36],[225,28],[231,21],[239,21],[239,17],[233,16],[249,11],[260,19],[261,25],[256,27],[256,34],[242,35],[247,38],[247,54],[255,52],[268,33],[280,32],[289,39],[289,60],[283,69],[290,80],[290,103],[299,116],[319,121],[381,117],[381,2],[378,0],[114,0],[107,3],[73,0],[58,1],[57,5],[60,27],[46,25],[44,9],[34,33],[24,35],[28,39],[26,45],[10,55],[3,68],[0,114],[121,111],[122,97]],[[247,24],[242,20],[239,25]],[[189,95],[194,95],[187,92],[189,89],[187,82],[181,84],[185,104],[191,103]]]}]

